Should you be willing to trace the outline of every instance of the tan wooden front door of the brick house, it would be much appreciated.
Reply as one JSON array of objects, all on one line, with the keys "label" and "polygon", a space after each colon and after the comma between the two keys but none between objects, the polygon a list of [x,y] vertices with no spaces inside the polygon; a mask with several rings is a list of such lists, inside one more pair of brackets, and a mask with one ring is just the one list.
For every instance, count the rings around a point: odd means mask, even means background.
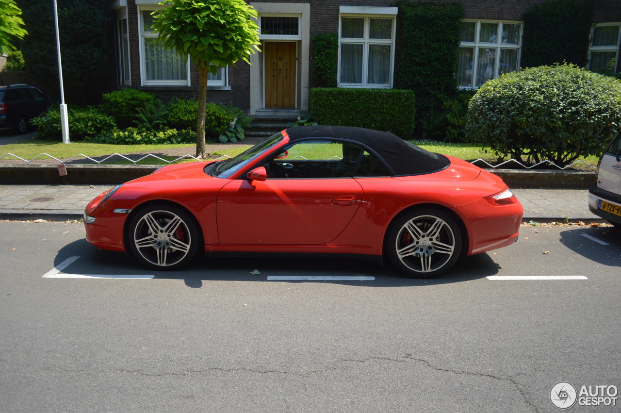
[{"label": "tan wooden front door of the brick house", "polygon": [[296,43],[265,42],[265,107],[296,107]]}]

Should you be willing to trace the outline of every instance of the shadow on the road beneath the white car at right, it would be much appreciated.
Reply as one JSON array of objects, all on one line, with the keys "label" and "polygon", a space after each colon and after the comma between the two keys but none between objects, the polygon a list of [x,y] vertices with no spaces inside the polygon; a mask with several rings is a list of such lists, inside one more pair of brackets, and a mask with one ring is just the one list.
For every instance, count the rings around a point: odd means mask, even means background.
[{"label": "shadow on the road beneath the white car at right", "polygon": [[579,227],[561,231],[561,243],[602,265],[621,266],[621,230],[614,227]]}]

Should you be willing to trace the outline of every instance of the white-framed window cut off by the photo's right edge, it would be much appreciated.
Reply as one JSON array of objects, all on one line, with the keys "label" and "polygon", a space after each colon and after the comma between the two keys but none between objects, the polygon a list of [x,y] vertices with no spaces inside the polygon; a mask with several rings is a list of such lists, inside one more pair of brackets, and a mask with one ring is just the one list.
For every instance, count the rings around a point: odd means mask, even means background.
[{"label": "white-framed window cut off by the photo's right edge", "polygon": [[621,23],[599,23],[593,25],[589,46],[589,70],[602,71],[612,65],[617,68],[619,59],[619,36]]}]

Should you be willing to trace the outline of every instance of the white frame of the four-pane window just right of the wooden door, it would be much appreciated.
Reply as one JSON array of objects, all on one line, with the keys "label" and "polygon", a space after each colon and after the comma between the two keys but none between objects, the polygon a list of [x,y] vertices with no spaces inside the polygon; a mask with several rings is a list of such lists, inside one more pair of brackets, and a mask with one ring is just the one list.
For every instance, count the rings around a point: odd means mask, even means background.
[{"label": "white frame of the four-pane window just right of the wooden door", "polygon": [[[347,11],[359,11],[365,12],[363,13],[352,13]],[[394,79],[394,49],[395,49],[395,32],[396,32],[396,12],[394,14],[373,14],[369,13],[374,9],[374,7],[345,7],[341,6],[340,14],[338,15],[338,71],[337,71],[337,80],[338,87],[340,88],[366,88],[366,89],[392,89],[392,83]],[[392,7],[377,7],[377,9],[382,9],[382,11],[389,11]],[[378,10],[379,11],[379,10]],[[353,17],[353,18],[363,18],[365,19],[364,25],[364,34],[362,39],[352,39],[347,37],[342,37],[342,18],[343,17]],[[369,19],[391,19],[391,39],[369,39],[369,30],[370,24]],[[362,53],[362,83],[343,83],[341,82],[341,46],[343,44],[361,44],[363,45],[363,53]],[[391,46],[391,56],[390,56],[390,68],[389,68],[389,81],[388,83],[377,84],[377,83],[368,83],[368,59],[369,59],[369,45],[390,45]]]}]

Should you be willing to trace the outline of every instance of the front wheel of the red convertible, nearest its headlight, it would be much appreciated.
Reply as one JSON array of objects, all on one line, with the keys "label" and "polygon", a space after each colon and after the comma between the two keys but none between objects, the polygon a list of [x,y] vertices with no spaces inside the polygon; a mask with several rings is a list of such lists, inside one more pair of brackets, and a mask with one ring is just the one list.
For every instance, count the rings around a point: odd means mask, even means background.
[{"label": "front wheel of the red convertible, nearest its headlight", "polygon": [[127,242],[132,255],[143,265],[171,271],[188,265],[196,257],[202,236],[194,217],[183,208],[155,204],[133,217]]}]

